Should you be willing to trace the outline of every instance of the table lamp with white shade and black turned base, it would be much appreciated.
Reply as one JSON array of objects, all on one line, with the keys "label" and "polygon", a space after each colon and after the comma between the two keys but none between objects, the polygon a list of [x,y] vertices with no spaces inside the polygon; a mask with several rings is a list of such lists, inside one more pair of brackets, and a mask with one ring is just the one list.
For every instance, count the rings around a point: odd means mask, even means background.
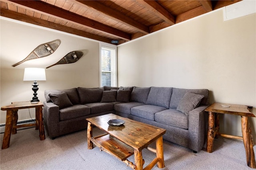
[{"label": "table lamp with white shade and black turned base", "polygon": [[44,68],[25,68],[24,70],[24,78],[23,81],[34,81],[34,84],[32,84],[33,88],[32,90],[34,91],[34,97],[32,100],[30,100],[31,103],[38,103],[40,100],[38,100],[37,95],[37,90],[38,90],[38,84],[36,81],[39,80],[46,80],[46,75],[45,75],[45,69]]}]

